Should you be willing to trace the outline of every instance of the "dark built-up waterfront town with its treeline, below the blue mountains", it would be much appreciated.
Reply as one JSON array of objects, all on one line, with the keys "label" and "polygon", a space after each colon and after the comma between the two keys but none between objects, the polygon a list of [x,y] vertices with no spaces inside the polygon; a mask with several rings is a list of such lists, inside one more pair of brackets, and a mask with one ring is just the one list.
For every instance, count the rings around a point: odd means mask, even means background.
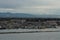
[{"label": "dark built-up waterfront town with its treeline, below the blue mountains", "polygon": [[45,29],[60,27],[60,18],[0,18],[0,29]]}]

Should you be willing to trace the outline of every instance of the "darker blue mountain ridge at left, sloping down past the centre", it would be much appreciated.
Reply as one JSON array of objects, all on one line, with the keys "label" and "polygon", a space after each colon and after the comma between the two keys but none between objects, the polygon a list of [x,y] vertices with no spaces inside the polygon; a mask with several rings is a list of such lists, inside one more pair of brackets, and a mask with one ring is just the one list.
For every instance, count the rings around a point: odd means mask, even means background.
[{"label": "darker blue mountain ridge at left, sloping down past the centre", "polygon": [[0,18],[32,18],[35,17],[32,14],[26,13],[0,13]]}]

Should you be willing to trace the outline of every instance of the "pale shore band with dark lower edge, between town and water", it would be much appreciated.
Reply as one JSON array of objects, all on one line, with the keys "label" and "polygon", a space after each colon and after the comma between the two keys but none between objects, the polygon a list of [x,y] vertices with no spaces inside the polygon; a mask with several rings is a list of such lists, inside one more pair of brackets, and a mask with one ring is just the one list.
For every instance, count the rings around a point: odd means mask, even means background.
[{"label": "pale shore band with dark lower edge, between town and water", "polygon": [[60,29],[6,29],[6,30],[0,30],[0,34],[38,33],[38,32],[60,32]]}]

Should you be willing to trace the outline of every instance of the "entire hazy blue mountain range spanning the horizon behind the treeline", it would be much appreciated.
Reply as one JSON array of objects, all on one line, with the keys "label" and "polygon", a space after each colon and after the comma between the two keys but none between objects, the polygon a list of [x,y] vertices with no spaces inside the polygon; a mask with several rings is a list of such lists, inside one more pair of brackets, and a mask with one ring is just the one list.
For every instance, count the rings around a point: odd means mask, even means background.
[{"label": "entire hazy blue mountain range spanning the horizon behind the treeline", "polygon": [[27,13],[0,13],[0,18],[60,18],[60,15],[33,15]]}]

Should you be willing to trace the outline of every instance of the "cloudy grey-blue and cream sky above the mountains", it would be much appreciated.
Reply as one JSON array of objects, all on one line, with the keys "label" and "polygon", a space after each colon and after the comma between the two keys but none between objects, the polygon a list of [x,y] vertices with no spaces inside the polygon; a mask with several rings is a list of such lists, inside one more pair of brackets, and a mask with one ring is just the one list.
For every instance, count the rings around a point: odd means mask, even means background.
[{"label": "cloudy grey-blue and cream sky above the mountains", "polygon": [[59,14],[60,0],[0,0],[0,12]]}]

